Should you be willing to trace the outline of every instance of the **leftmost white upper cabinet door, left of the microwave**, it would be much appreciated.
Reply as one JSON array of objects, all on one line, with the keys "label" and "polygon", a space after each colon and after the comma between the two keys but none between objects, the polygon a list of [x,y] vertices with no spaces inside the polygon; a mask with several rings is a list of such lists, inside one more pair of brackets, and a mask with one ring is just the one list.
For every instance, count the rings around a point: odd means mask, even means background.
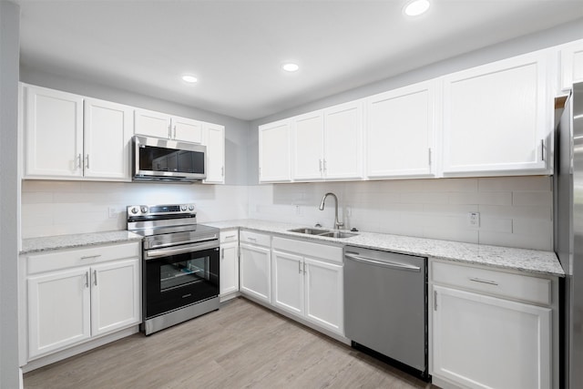
[{"label": "leftmost white upper cabinet door, left of the microwave", "polygon": [[83,176],[83,97],[25,86],[25,176]]}]

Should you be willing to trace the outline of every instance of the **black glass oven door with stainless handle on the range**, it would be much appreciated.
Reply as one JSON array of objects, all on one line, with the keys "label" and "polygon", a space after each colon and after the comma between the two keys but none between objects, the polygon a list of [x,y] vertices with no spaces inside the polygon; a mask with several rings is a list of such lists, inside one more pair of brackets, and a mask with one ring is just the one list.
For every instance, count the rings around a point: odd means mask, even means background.
[{"label": "black glass oven door with stainless handle on the range", "polygon": [[219,242],[144,252],[145,318],[219,295]]}]

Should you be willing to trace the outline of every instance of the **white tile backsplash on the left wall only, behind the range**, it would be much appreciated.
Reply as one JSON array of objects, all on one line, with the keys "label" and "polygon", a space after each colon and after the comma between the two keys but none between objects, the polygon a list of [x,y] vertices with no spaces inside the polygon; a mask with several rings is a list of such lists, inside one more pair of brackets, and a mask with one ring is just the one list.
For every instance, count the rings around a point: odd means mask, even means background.
[{"label": "white tile backsplash on the left wall only, behind the range", "polygon": [[201,223],[247,217],[245,186],[31,179],[22,185],[22,237],[126,230],[128,205],[185,202]]}]

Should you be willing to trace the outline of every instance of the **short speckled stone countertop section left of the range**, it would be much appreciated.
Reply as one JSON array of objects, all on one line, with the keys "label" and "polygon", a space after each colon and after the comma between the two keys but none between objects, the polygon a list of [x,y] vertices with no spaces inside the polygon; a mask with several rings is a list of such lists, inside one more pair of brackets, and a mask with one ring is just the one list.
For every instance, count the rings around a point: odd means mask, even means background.
[{"label": "short speckled stone countertop section left of the range", "polygon": [[141,240],[142,237],[140,235],[127,230],[28,238],[23,239],[20,254]]}]

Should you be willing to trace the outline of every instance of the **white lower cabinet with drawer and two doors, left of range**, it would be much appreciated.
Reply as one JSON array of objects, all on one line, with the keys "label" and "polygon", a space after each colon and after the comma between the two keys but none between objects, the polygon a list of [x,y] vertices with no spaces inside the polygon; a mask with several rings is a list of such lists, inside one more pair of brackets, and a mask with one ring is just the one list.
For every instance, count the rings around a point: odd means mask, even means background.
[{"label": "white lower cabinet with drawer and two doors, left of range", "polygon": [[138,242],[29,255],[27,360],[140,322]]}]

